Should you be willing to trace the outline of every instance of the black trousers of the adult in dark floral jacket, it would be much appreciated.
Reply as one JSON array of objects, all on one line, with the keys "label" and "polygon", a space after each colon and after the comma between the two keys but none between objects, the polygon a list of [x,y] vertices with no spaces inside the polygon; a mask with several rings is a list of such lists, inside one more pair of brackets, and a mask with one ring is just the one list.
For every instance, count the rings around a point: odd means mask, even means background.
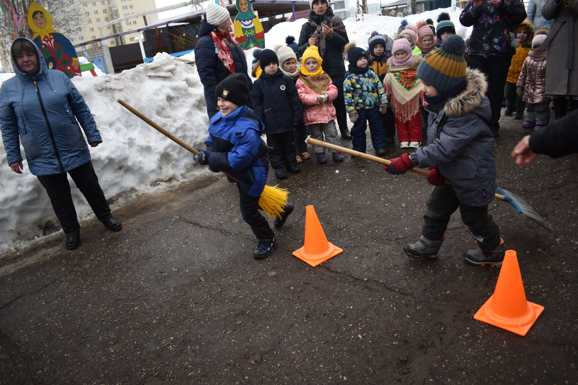
[{"label": "black trousers of the adult in dark floral jacket", "polygon": [[506,85],[507,72],[510,69],[511,56],[490,56],[484,58],[480,55],[470,55],[469,67],[479,69],[488,78],[488,91],[486,96],[490,99],[492,116],[488,126],[494,135],[500,129],[499,119],[502,113],[502,100],[504,86]]}]

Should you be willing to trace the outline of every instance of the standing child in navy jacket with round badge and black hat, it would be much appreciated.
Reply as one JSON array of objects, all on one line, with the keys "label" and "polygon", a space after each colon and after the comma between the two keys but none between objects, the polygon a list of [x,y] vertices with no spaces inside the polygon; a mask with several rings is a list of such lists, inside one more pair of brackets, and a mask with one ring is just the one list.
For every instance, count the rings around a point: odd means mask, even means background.
[{"label": "standing child in navy jacket with round badge and black hat", "polygon": [[259,62],[263,72],[251,89],[251,104],[255,114],[265,123],[269,146],[269,162],[278,179],[298,173],[301,168],[295,158],[294,126],[302,120],[299,94],[293,80],[279,68],[279,58],[273,50],[262,50]]}]

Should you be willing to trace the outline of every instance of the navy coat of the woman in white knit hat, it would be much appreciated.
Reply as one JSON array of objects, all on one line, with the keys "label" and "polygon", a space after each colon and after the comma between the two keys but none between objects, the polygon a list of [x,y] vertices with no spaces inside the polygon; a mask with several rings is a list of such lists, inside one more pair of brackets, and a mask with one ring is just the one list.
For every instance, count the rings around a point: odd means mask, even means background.
[{"label": "navy coat of the woman in white knit hat", "polygon": [[[207,104],[209,119],[218,111],[215,87],[217,87],[217,84],[219,84],[221,80],[229,76],[229,70],[224,68],[223,62],[215,53],[216,44],[213,42],[211,32],[218,32],[218,28],[207,23],[205,20],[201,21],[201,27],[199,27],[201,39],[199,39],[197,46],[195,46],[195,64],[197,65],[199,77],[201,77],[201,83],[205,88],[205,102]],[[235,62],[235,72],[244,73],[247,76],[250,90],[253,82],[249,77],[247,59],[245,58],[244,51],[236,44],[231,44],[228,47],[229,51],[231,51],[232,59]],[[248,106],[251,107],[250,104],[248,104]]]}]

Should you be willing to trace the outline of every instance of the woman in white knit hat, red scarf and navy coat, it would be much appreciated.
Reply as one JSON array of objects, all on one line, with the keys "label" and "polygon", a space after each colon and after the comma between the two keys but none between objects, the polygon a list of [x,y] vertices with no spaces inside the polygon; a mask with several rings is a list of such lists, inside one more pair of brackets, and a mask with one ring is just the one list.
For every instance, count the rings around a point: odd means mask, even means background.
[{"label": "woman in white knit hat, red scarf and navy coat", "polygon": [[[201,39],[195,46],[195,63],[205,88],[205,102],[210,119],[218,111],[215,88],[221,80],[237,72],[247,76],[249,89],[253,86],[253,82],[247,70],[245,53],[231,36],[227,9],[216,3],[209,3],[206,20],[201,22],[199,35]],[[218,54],[215,53],[216,49],[219,51]]]}]

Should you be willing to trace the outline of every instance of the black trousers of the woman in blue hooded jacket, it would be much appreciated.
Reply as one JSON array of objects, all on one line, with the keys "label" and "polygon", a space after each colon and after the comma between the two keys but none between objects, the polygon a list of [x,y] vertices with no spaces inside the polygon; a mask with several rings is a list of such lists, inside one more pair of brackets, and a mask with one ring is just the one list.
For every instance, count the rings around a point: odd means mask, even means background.
[{"label": "black trousers of the woman in blue hooded jacket", "polygon": [[[68,171],[68,174],[71,175],[76,187],[90,204],[98,220],[106,222],[112,218],[109,204],[106,203],[105,195],[102,192],[101,185],[98,183],[98,177],[94,172],[92,162],[89,160],[84,165]],[[80,223],[78,223],[78,218],[76,218],[71,185],[68,183],[66,174],[39,175],[37,178],[46,189],[54,214],[60,221],[66,236],[80,235]]]}]

